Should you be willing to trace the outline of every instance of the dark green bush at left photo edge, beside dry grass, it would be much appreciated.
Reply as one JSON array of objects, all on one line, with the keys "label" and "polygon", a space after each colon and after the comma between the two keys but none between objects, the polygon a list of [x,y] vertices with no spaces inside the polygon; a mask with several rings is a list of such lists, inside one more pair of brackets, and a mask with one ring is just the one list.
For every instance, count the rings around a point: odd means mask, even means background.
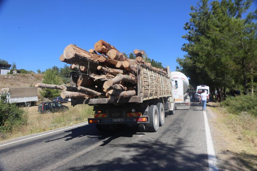
[{"label": "dark green bush at left photo edge, beside dry grass", "polygon": [[23,117],[24,111],[16,104],[5,103],[6,96],[1,96],[0,101],[0,133],[12,131],[13,127],[25,124],[27,119]]}]

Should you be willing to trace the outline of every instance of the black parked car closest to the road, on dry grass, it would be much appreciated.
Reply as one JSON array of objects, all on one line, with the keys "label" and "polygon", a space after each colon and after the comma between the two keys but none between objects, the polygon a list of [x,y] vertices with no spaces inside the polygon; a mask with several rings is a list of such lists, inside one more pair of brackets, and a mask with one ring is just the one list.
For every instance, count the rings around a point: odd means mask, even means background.
[{"label": "black parked car closest to the road, on dry grass", "polygon": [[54,113],[69,110],[68,106],[59,104],[58,102],[43,102],[38,105],[39,113]]}]

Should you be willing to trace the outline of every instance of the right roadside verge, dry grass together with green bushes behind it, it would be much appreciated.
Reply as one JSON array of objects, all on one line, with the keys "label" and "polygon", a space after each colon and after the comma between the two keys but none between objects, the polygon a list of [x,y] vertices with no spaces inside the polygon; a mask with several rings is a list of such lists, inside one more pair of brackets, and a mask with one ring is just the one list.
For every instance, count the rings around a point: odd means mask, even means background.
[{"label": "right roadside verge, dry grass together with green bushes behind it", "polygon": [[216,129],[223,132],[229,151],[236,156],[233,160],[257,170],[257,94],[227,97],[209,106],[217,115]]}]

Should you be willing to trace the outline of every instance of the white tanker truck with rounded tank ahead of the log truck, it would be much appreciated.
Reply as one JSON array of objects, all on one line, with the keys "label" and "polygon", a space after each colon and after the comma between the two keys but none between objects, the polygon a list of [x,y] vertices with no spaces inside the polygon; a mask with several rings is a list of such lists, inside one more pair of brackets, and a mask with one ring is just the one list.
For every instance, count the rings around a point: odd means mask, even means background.
[{"label": "white tanker truck with rounded tank ahead of the log truck", "polygon": [[[187,76],[181,72],[171,72],[170,78],[172,79],[172,91],[175,102],[175,109],[190,109],[190,97],[186,94],[189,86]],[[177,83],[177,88],[175,87]]]}]

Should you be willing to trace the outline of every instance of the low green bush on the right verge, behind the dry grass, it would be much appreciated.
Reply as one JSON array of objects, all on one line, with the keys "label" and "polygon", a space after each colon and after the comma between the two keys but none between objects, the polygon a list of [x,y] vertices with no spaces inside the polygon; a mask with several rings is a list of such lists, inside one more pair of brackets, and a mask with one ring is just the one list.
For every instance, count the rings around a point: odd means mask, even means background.
[{"label": "low green bush on the right verge, behind the dry grass", "polygon": [[241,112],[248,112],[251,115],[257,116],[257,94],[253,96],[240,95],[240,96],[229,96],[220,103],[222,107],[225,107],[227,111],[234,114],[240,114]]}]

